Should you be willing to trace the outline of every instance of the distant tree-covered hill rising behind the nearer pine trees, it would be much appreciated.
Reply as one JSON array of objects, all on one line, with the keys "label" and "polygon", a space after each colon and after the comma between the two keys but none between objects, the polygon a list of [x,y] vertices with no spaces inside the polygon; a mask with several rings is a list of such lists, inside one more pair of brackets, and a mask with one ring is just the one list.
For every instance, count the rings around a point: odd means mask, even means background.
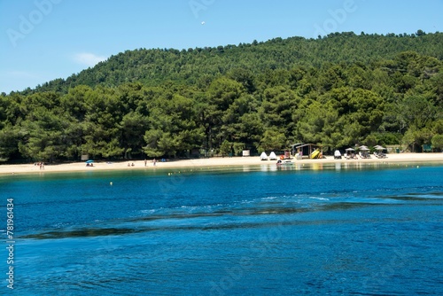
[{"label": "distant tree-covered hill rising behind the nearer pine trees", "polygon": [[443,34],[418,31],[416,35],[330,34],[323,39],[275,38],[265,43],[240,43],[214,48],[136,50],[117,54],[92,69],[74,74],[66,81],[45,83],[37,91],[67,91],[77,85],[119,86],[125,82],[142,82],[146,86],[175,83],[206,88],[214,78],[230,69],[243,68],[257,74],[267,70],[295,66],[322,67],[325,63],[369,65],[392,59],[403,51],[416,51],[443,59]]}]

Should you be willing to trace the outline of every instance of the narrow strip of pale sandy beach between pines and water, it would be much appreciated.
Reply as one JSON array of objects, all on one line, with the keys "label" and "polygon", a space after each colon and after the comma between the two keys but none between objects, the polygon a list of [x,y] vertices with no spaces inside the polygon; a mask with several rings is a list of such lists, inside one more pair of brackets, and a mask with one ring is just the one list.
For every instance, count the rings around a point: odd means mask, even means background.
[{"label": "narrow strip of pale sandy beach between pines and water", "polygon": [[[370,159],[358,160],[334,160],[333,156],[326,156],[321,160],[295,160],[292,159],[295,165],[311,165],[311,164],[334,164],[334,163],[441,163],[443,164],[443,152],[439,153],[392,153],[386,154],[387,158],[377,159],[371,155]],[[128,163],[134,163],[134,166],[128,167]],[[69,173],[69,172],[91,172],[91,171],[125,171],[125,170],[139,170],[139,169],[175,169],[175,168],[197,168],[197,167],[241,167],[241,166],[275,166],[276,160],[260,160],[260,157],[225,157],[225,158],[209,158],[209,159],[189,159],[189,160],[171,160],[166,162],[158,161],[155,166],[152,160],[148,160],[146,167],[144,160],[125,160],[119,162],[94,162],[93,167],[87,167],[85,162],[72,162],[64,164],[45,165],[44,169],[32,164],[20,165],[0,165],[0,175],[29,175],[36,173]]]}]

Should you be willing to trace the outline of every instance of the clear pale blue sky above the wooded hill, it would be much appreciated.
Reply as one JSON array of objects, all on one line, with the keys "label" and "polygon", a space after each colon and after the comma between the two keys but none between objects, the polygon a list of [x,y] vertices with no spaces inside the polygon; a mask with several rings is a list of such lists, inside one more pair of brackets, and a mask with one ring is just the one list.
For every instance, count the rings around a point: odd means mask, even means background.
[{"label": "clear pale blue sky above the wooded hill", "polygon": [[441,12],[443,0],[0,0],[0,93],[140,48],[443,32]]}]

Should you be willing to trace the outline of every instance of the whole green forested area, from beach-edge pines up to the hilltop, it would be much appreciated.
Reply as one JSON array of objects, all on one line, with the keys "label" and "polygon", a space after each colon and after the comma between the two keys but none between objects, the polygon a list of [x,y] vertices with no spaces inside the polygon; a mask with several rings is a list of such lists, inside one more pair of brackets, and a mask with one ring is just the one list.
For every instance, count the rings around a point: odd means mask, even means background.
[{"label": "whole green forested area, from beach-edge pines up to the hilltop", "polygon": [[443,148],[443,34],[331,34],[117,54],[0,97],[0,159],[173,157],[291,143]]}]

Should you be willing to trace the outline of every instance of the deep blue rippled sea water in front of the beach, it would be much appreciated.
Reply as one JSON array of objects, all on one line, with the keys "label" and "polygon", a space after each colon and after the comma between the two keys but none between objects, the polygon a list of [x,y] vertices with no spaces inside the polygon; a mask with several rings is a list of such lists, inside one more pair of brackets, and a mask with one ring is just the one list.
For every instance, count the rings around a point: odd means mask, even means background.
[{"label": "deep blue rippled sea water in front of the beach", "polygon": [[0,196],[2,295],[443,294],[443,163],[42,172]]}]

